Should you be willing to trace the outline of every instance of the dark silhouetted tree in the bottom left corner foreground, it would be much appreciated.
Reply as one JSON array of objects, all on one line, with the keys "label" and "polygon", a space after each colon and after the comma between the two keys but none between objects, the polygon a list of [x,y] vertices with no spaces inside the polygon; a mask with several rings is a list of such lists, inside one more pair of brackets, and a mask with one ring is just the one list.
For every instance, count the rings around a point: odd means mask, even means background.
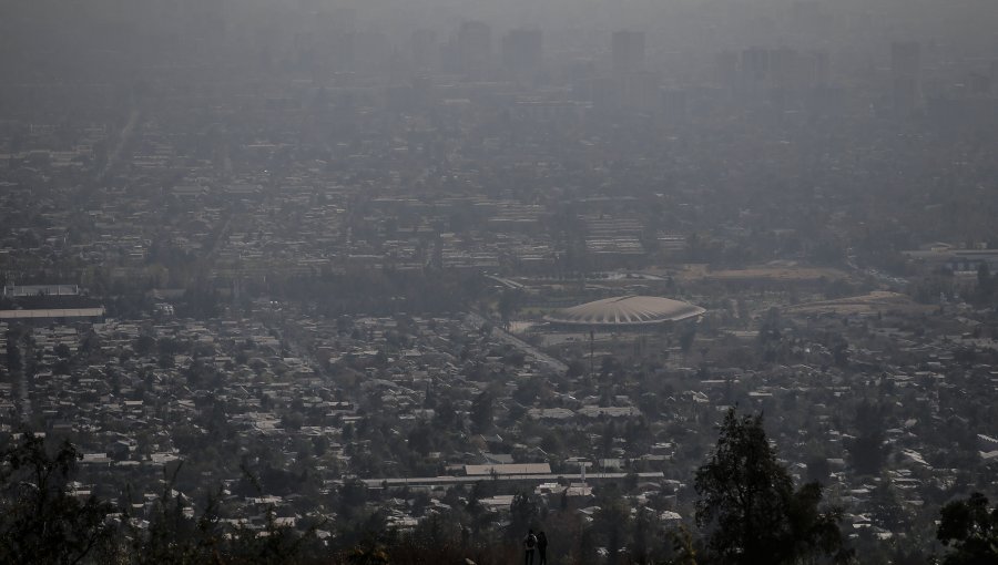
[{"label": "dark silhouetted tree in the bottom left corner foreground", "polygon": [[81,458],[68,441],[51,452],[31,433],[0,452],[0,562],[80,563],[111,538],[112,506],[70,493]]}]

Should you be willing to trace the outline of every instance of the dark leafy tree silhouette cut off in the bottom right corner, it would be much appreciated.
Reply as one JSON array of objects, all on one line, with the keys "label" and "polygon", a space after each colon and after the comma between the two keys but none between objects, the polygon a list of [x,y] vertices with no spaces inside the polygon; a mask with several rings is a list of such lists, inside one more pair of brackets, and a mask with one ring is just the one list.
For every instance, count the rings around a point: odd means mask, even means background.
[{"label": "dark leafy tree silhouette cut off in the bottom right corner", "polygon": [[998,563],[998,506],[988,510],[988,499],[976,492],[967,500],[953,501],[939,511],[936,538],[954,551],[945,565]]}]

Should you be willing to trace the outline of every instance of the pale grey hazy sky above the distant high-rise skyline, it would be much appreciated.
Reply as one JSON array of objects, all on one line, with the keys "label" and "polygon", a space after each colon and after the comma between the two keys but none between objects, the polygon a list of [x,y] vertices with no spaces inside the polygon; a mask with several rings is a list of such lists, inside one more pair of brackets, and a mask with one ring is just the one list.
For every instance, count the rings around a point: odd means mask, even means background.
[{"label": "pale grey hazy sky above the distant high-rise skyline", "polygon": [[497,45],[509,29],[542,29],[549,52],[598,54],[610,32],[634,29],[652,55],[791,47],[883,65],[906,40],[940,61],[998,58],[995,0],[0,0],[0,70],[19,80],[232,59],[337,30],[406,49],[418,28],[446,41],[469,19],[489,23]]}]

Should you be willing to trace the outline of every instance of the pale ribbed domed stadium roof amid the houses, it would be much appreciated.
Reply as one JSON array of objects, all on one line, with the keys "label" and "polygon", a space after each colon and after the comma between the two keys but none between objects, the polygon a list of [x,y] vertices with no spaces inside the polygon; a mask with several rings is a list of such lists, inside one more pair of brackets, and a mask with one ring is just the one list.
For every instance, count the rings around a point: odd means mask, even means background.
[{"label": "pale ribbed domed stadium roof amid the houses", "polygon": [[670,323],[696,318],[703,308],[658,296],[622,296],[573,306],[544,316],[556,326],[623,329]]}]

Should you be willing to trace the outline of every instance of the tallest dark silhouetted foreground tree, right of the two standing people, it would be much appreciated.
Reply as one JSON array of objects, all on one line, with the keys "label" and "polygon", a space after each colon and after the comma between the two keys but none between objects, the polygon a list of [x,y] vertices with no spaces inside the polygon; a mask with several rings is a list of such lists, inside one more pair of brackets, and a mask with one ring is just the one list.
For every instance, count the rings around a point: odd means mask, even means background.
[{"label": "tallest dark silhouetted foreground tree, right of the two standing people", "polygon": [[696,471],[696,523],[720,563],[797,563],[842,548],[836,510],[819,510],[822,486],[794,491],[762,415],[727,411],[711,459]]}]

